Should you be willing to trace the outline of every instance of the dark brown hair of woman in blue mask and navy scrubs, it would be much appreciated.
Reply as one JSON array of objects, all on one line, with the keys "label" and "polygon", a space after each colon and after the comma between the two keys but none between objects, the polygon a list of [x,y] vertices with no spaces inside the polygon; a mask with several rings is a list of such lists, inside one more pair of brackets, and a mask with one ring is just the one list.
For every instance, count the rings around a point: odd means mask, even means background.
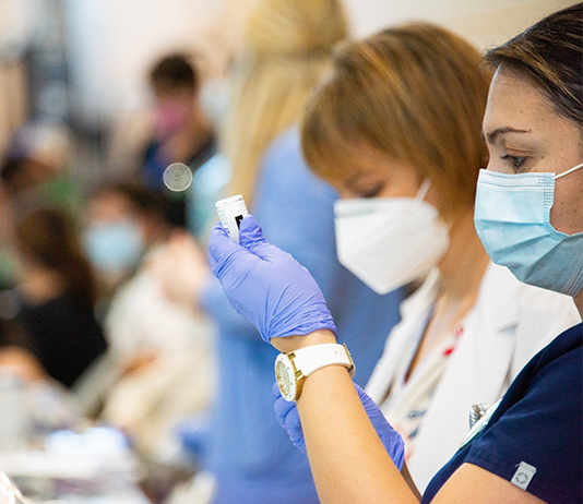
[{"label": "dark brown hair of woman in blue mask and navy scrubs", "polygon": [[583,3],[543,19],[485,60],[528,79],[559,113],[583,123]]}]

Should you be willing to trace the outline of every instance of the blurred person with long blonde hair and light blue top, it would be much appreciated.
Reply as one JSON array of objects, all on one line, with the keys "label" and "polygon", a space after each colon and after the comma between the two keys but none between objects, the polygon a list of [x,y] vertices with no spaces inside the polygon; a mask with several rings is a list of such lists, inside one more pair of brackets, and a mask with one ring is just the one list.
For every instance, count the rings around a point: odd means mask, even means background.
[{"label": "blurred person with long blonde hair and light blue top", "polygon": [[[261,215],[265,233],[300,259],[336,314],[341,338],[366,383],[391,327],[403,291],[379,296],[343,268],[334,247],[334,190],[313,177],[300,153],[295,124],[311,88],[347,35],[335,0],[260,0],[245,24],[231,74],[225,154],[231,194]],[[216,217],[215,217],[216,221]],[[167,261],[175,298],[198,303],[218,332],[219,383],[203,467],[216,482],[214,503],[317,503],[308,459],[273,419],[271,385],[276,352],[228,304],[206,262],[177,243]],[[180,253],[180,245],[182,254]]]}]

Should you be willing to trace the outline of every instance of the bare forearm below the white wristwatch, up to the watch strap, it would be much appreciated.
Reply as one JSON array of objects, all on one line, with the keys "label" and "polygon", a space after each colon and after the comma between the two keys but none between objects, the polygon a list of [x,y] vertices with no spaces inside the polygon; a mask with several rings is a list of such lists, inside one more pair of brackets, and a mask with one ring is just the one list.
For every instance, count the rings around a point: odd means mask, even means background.
[{"label": "bare forearm below the white wristwatch, up to the watch strap", "polygon": [[379,440],[343,367],[312,373],[297,407],[322,503],[418,502]]}]

